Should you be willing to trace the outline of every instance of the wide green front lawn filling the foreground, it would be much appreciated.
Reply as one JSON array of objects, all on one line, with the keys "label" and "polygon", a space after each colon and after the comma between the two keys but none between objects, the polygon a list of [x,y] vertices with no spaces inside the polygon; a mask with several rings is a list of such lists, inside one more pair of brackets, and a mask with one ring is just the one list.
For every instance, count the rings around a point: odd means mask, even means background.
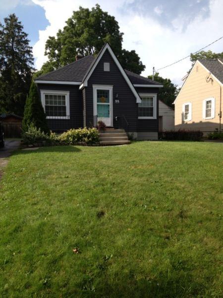
[{"label": "wide green front lawn filling the foreground", "polygon": [[223,297],[222,206],[220,143],[17,151],[0,297]]}]

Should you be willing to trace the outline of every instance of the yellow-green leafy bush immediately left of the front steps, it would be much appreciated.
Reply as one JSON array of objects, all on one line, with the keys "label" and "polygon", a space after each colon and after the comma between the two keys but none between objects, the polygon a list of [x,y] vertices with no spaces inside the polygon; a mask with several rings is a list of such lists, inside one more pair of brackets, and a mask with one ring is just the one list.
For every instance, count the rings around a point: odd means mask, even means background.
[{"label": "yellow-green leafy bush immediately left of the front steps", "polygon": [[62,133],[59,137],[60,142],[66,145],[75,144],[96,144],[99,142],[99,134],[95,128],[70,129]]}]

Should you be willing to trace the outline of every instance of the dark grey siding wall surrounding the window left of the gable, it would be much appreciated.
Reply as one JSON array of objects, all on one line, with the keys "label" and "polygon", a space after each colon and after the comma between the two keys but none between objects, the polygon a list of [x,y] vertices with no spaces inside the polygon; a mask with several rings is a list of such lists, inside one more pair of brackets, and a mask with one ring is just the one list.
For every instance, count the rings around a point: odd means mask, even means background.
[{"label": "dark grey siding wall surrounding the window left of the gable", "polygon": [[50,130],[63,132],[70,128],[83,127],[82,91],[77,85],[38,84],[38,90],[62,90],[70,92],[70,119],[47,119]]}]

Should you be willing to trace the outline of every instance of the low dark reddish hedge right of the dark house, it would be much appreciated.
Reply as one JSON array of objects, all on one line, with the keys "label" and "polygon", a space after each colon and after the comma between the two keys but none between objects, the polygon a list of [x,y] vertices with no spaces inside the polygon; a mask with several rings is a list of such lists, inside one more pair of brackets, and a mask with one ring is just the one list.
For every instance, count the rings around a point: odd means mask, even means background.
[{"label": "low dark reddish hedge right of the dark house", "polygon": [[162,140],[168,141],[200,141],[203,136],[201,131],[178,130],[178,131],[165,131],[159,133]]}]

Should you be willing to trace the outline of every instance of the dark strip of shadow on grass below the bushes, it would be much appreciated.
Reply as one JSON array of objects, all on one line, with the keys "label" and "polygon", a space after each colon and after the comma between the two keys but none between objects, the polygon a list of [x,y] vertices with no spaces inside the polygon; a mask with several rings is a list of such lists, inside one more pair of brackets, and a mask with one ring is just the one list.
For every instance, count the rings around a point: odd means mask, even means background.
[{"label": "dark strip of shadow on grass below the bushes", "polygon": [[30,154],[30,153],[40,153],[40,152],[80,152],[81,149],[75,147],[75,146],[54,146],[54,147],[40,147],[40,148],[30,148],[30,149],[21,149],[14,151],[12,155],[18,155],[18,154]]}]

